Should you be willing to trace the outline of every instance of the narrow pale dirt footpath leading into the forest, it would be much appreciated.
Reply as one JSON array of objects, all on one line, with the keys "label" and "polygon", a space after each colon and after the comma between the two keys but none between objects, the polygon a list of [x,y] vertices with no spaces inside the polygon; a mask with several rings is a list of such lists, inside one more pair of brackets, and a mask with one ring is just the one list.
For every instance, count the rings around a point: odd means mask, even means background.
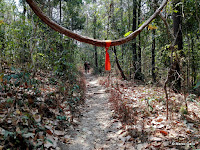
[{"label": "narrow pale dirt footpath leading into the forest", "polygon": [[[125,150],[133,149],[120,139],[122,124],[113,119],[108,102],[109,94],[98,84],[96,77],[87,74],[87,98],[81,108],[79,125],[70,133],[68,150]],[[130,143],[129,143],[130,144]],[[129,148],[128,148],[129,147]]]}]

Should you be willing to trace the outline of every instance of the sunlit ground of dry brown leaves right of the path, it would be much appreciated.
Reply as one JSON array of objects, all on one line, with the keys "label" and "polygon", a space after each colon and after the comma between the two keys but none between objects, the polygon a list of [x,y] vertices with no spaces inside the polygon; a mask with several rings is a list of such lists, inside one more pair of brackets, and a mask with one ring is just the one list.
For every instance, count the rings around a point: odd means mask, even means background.
[{"label": "sunlit ground of dry brown leaves right of the path", "polygon": [[[124,137],[125,141],[128,138],[129,142],[141,143],[145,149],[200,148],[200,107],[196,96],[186,98],[186,111],[183,95],[169,90],[170,117],[166,120],[166,99],[162,87],[137,85],[115,77],[102,77],[99,82],[110,93],[113,117],[121,121],[122,133],[127,133],[123,135],[131,137]],[[188,147],[184,143],[193,145]]]}]

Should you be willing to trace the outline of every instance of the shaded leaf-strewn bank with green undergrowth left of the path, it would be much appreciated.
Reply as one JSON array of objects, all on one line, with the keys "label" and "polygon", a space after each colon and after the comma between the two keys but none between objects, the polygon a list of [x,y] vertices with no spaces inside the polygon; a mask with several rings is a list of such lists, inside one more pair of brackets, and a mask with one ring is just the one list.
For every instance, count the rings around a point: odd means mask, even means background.
[{"label": "shaded leaf-strewn bank with green undergrowth left of the path", "polygon": [[[70,76],[72,77],[72,75]],[[85,78],[69,79],[51,71],[34,73],[5,67],[0,74],[0,149],[55,148],[66,142],[65,130],[79,117]]]}]

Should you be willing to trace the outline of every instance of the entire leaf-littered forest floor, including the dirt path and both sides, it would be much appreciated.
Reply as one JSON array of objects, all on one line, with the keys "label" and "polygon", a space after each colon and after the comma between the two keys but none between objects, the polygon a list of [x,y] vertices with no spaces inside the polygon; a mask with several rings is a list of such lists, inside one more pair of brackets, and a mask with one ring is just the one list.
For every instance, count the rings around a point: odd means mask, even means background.
[{"label": "entire leaf-littered forest floor, including the dirt path and both sides", "polygon": [[[184,96],[168,89],[167,120],[163,87],[111,75],[85,77],[76,80],[83,88],[71,87],[70,95],[62,92],[70,84],[58,82],[51,72],[32,78],[20,70],[5,71],[0,76],[0,150],[200,149],[200,97],[185,95],[187,112]],[[76,110],[70,109],[71,100],[80,100]]]}]

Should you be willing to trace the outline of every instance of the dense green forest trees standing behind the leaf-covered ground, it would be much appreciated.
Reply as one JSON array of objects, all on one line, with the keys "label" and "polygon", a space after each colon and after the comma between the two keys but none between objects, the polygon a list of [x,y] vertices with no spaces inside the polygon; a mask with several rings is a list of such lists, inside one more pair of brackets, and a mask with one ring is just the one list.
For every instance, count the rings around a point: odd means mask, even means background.
[{"label": "dense green forest trees standing behind the leaf-covered ground", "polygon": [[[67,29],[96,39],[114,40],[140,27],[160,1],[38,3],[52,20]],[[112,48],[111,63],[115,66],[112,70],[119,73],[118,64],[128,79],[162,84],[169,68],[173,74],[173,69],[178,67],[175,78],[181,80],[179,86],[194,90],[199,80],[199,5],[197,0],[169,1],[160,16],[135,40]],[[15,1],[1,1],[1,69],[5,61],[23,64],[28,70],[45,68],[61,73],[64,69],[69,74],[77,64],[89,61],[96,73],[103,73],[104,49],[53,31],[35,16],[25,1],[20,1],[19,6]],[[175,88],[179,91],[181,87]]]}]

